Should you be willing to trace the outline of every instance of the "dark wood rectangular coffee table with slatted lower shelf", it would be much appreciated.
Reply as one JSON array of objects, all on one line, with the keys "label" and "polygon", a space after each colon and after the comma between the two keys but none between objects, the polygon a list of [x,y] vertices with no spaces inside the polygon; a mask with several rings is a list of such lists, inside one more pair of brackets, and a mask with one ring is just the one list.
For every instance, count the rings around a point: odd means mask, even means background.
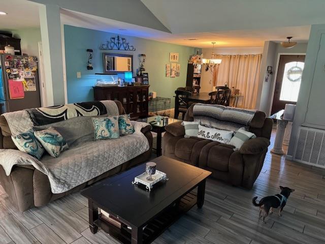
[{"label": "dark wood rectangular coffee table with slatted lower shelf", "polygon": [[[167,173],[169,180],[158,182],[151,192],[132,185],[134,177],[145,171],[145,164],[81,192],[88,198],[93,234],[100,227],[121,243],[151,243],[192,206],[203,206],[205,181],[211,172],[165,156],[152,161],[157,163],[157,170]],[[196,188],[197,193],[193,191]],[[98,208],[116,218],[121,228],[101,218]]]}]

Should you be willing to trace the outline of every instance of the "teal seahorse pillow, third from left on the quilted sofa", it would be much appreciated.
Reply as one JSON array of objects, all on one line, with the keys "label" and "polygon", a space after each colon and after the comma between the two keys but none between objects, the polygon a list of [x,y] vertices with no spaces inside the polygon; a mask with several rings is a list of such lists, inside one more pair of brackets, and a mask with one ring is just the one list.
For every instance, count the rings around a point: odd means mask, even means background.
[{"label": "teal seahorse pillow, third from left on the quilted sofa", "polygon": [[117,139],[120,137],[118,116],[92,117],[94,140]]}]

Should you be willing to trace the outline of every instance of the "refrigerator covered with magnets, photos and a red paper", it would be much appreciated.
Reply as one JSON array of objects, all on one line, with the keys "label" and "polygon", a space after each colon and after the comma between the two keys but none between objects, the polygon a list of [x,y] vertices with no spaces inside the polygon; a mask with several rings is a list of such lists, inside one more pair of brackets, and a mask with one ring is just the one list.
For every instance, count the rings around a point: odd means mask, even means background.
[{"label": "refrigerator covered with magnets, photos and a red paper", "polygon": [[0,114],[39,107],[37,57],[0,54]]}]

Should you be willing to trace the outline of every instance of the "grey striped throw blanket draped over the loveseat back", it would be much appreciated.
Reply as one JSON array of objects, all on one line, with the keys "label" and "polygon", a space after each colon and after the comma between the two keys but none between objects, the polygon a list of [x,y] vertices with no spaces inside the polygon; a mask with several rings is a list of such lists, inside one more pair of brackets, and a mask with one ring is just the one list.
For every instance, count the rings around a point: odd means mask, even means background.
[{"label": "grey striped throw blanket draped over the loveseat back", "polygon": [[205,127],[227,131],[248,128],[255,112],[255,110],[201,103],[193,107],[194,121],[200,121],[200,124]]}]

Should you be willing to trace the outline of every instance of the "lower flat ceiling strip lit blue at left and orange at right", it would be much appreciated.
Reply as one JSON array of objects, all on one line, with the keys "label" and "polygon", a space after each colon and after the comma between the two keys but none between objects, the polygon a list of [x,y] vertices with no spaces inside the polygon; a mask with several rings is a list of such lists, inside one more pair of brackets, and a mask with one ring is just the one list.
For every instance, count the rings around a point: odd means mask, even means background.
[{"label": "lower flat ceiling strip lit blue at left and orange at right", "polygon": [[[211,42],[216,41],[215,47],[263,47],[264,41],[285,41],[287,36],[295,37],[295,41],[307,42],[309,39],[310,25],[253,29],[240,31],[222,31],[210,33],[181,33],[170,34],[138,25],[123,23],[103,17],[61,10],[61,21],[64,24],[97,29],[99,31],[117,33],[120,35],[136,36],[157,41],[175,43],[194,47],[211,47]],[[120,31],[119,29],[126,29]],[[187,40],[198,39],[198,40]]]}]

